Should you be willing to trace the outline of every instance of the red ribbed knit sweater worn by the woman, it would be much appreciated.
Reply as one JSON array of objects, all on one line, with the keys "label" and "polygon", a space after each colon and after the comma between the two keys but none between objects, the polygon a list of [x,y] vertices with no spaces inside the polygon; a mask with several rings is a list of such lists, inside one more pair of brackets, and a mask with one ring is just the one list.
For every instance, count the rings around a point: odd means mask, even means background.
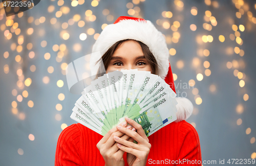
[{"label": "red ribbed knit sweater worn by the woman", "polygon": [[[101,135],[81,124],[67,127],[59,135],[55,166],[104,165],[104,159],[96,147],[101,138]],[[201,165],[198,133],[186,121],[173,122],[149,136],[148,139],[152,147],[146,165]],[[126,153],[123,158],[125,165],[128,165]]]}]

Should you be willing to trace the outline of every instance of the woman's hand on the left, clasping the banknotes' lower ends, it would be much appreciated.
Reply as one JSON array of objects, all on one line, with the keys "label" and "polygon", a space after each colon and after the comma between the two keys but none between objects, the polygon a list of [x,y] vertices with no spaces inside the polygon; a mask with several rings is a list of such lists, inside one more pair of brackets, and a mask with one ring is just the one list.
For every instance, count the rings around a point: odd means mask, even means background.
[{"label": "woman's hand on the left, clasping the banknotes' lower ends", "polygon": [[[135,128],[132,128],[131,125],[127,126],[127,123],[125,121],[120,125],[126,127],[127,129],[135,130]],[[130,136],[118,131],[116,127],[111,129],[108,133],[104,135],[104,137],[97,144],[97,148],[99,149],[100,154],[105,160],[105,166],[124,165],[124,151],[120,150],[117,147],[114,136],[121,137],[125,140],[128,140],[130,138]]]}]

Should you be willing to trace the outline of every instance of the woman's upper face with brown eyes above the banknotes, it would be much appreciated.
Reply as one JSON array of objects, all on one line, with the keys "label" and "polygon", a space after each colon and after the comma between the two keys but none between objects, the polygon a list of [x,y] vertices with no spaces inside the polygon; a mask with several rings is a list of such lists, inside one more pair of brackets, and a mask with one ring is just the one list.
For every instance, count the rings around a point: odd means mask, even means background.
[{"label": "woman's upper face with brown eyes above the banknotes", "polygon": [[152,73],[150,63],[146,60],[141,46],[134,40],[127,40],[121,43],[114,52],[108,70],[138,69]]}]

